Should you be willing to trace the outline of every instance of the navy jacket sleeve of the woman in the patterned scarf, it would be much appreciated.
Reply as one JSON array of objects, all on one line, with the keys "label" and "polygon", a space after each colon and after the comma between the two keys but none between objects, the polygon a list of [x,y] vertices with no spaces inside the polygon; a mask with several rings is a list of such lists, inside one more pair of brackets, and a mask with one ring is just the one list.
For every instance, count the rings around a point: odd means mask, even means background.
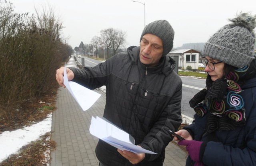
[{"label": "navy jacket sleeve of the woman in the patterned scarf", "polygon": [[[256,108],[252,110],[256,112]],[[210,141],[204,151],[203,162],[212,166],[255,166],[256,165],[256,117],[247,119],[244,131],[245,148]],[[236,138],[238,139],[238,138]]]}]

